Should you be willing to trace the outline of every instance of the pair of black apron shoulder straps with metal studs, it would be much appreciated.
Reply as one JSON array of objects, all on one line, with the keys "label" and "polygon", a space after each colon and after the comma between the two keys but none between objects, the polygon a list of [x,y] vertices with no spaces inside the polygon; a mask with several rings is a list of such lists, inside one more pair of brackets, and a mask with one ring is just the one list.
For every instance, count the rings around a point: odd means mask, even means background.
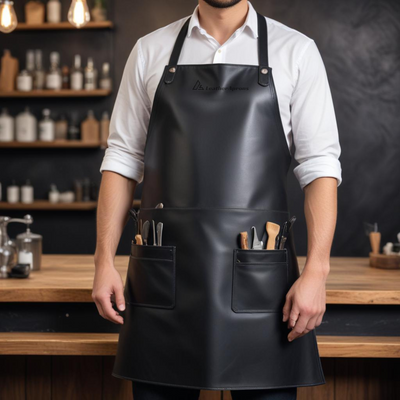
[{"label": "pair of black apron shoulder straps with metal studs", "polygon": [[[178,65],[179,56],[185,41],[189,22],[189,17],[183,24],[179,31],[178,37],[175,40],[174,48],[171,53],[171,57],[168,63],[168,71],[165,75],[165,83],[171,83],[174,79],[176,67]],[[268,86],[269,84],[269,66],[268,66],[268,29],[267,21],[263,15],[257,12],[257,25],[258,25],[258,83],[262,86]]]}]

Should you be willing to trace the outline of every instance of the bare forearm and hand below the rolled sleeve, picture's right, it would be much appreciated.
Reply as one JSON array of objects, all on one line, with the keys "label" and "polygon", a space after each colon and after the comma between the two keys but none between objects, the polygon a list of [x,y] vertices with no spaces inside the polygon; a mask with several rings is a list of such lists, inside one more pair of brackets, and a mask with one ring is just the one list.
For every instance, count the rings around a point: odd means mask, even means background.
[{"label": "bare forearm and hand below the rolled sleeve, picture's right", "polygon": [[[325,313],[325,284],[337,218],[337,180],[318,178],[304,187],[307,259],[302,274],[286,295],[283,321],[292,341],[321,325]],[[297,321],[297,322],[296,322]]]}]

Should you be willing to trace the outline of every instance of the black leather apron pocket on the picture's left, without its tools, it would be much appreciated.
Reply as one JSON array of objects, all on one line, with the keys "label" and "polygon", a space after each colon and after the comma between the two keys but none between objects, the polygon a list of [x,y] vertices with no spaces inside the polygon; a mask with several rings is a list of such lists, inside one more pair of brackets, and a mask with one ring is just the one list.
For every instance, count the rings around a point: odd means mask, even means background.
[{"label": "black leather apron pocket on the picture's left, without its tools", "polygon": [[175,246],[132,242],[124,295],[127,304],[175,307]]}]

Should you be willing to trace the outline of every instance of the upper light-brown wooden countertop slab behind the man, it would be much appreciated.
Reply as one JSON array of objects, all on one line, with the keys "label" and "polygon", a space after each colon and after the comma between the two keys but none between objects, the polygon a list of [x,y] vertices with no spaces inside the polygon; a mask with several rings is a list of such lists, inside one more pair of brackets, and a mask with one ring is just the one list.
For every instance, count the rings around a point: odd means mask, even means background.
[{"label": "upper light-brown wooden countertop slab behind the man", "polygon": [[[300,269],[306,258],[298,257]],[[128,256],[115,265],[125,280]],[[0,302],[92,302],[92,255],[43,255],[27,279],[0,279]],[[367,257],[332,257],[327,304],[400,304],[400,270],[375,269]]]}]

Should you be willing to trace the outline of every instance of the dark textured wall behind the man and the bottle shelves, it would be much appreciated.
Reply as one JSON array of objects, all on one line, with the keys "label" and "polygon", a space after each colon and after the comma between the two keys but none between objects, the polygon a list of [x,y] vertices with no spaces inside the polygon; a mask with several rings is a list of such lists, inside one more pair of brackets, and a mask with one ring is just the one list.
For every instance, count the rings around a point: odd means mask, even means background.
[{"label": "dark textured wall behind the man and the bottle shelves", "polygon": [[[16,10],[23,20],[22,2]],[[111,60],[115,89],[136,40],[193,12],[196,0],[113,0],[112,31],[14,32],[0,35],[0,50],[11,49],[25,64],[28,48],[42,48],[46,66],[52,50],[62,63],[73,55],[93,56],[97,66]],[[260,13],[313,38],[322,54],[339,126],[343,183],[339,186],[338,222],[332,256],[367,256],[369,243],[363,221],[378,222],[382,243],[396,241],[400,231],[400,3],[398,0],[253,0]],[[63,1],[66,14],[69,1]],[[15,115],[26,105],[39,116],[44,107],[54,115],[79,110],[83,117],[94,109],[100,117],[112,110],[116,90],[104,99],[0,100]],[[30,178],[38,198],[45,198],[50,183],[67,190],[75,178],[100,182],[103,151],[1,150],[0,182],[22,184]],[[293,162],[292,168],[296,166]],[[140,186],[136,192],[140,197]],[[288,192],[298,255],[306,255],[307,231],[303,193],[289,173]],[[4,214],[4,212],[1,212]],[[7,212],[23,216],[24,212]],[[44,236],[45,253],[92,253],[95,248],[95,212],[32,212],[33,230]],[[20,226],[11,226],[14,236]],[[119,254],[128,254],[133,228],[129,223]]]}]

